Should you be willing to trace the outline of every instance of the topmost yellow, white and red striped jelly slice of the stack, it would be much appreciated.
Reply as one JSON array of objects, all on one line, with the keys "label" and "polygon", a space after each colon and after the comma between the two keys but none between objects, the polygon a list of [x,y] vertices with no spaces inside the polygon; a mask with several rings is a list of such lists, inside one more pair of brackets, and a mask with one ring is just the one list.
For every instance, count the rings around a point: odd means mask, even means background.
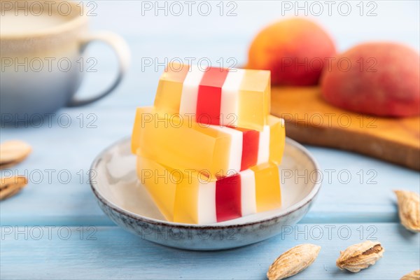
[{"label": "topmost yellow, white and red striped jelly slice of the stack", "polygon": [[155,98],[158,111],[191,114],[197,123],[258,131],[267,125],[269,103],[269,71],[174,63],[162,74]]}]

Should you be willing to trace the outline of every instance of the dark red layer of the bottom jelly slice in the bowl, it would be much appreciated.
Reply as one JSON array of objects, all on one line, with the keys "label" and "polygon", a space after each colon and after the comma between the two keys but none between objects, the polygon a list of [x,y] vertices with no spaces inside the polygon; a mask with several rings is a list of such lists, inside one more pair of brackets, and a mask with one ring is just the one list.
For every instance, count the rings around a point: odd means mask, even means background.
[{"label": "dark red layer of the bottom jelly slice in the bowl", "polygon": [[218,222],[241,217],[241,176],[216,181],[216,218]]}]

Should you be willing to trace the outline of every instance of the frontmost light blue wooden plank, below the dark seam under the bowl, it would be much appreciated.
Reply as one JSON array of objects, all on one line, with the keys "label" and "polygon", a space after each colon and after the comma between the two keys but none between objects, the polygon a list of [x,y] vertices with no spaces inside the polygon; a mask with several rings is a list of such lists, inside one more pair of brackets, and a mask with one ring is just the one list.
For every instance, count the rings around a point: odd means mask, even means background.
[{"label": "frontmost light blue wooden plank, below the dark seam under the bowl", "polygon": [[[318,244],[321,252],[290,279],[399,279],[420,263],[419,235],[394,223],[299,225],[258,244],[214,252],[167,248],[116,227],[94,229],[80,236],[80,228],[51,228],[50,235],[45,228],[1,228],[1,279],[265,279],[278,255],[302,243]],[[335,267],[339,250],[365,239],[381,241],[384,258],[358,274]]]}]

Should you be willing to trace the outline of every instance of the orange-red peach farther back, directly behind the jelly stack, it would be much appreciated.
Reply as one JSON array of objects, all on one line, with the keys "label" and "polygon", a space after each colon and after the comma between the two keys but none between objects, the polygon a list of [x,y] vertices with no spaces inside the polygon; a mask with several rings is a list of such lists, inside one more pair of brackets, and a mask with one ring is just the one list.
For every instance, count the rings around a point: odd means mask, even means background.
[{"label": "orange-red peach farther back, directly behind the jelly stack", "polygon": [[248,68],[272,72],[273,85],[316,85],[325,58],[335,55],[332,39],[316,23],[283,20],[262,29],[248,53]]}]

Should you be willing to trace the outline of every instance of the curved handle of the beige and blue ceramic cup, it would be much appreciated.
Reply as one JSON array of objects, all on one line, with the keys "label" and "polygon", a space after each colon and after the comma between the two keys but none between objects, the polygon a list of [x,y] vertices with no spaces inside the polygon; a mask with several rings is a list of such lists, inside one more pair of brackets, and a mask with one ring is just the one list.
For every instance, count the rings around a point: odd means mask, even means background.
[{"label": "curved handle of the beige and blue ceramic cup", "polygon": [[78,99],[77,97],[73,97],[69,104],[67,104],[67,107],[87,105],[101,99],[102,97],[106,97],[106,95],[110,94],[118,86],[121,80],[123,80],[123,76],[125,75],[128,65],[130,64],[130,49],[128,48],[128,45],[125,43],[124,39],[117,34],[108,31],[99,31],[95,34],[87,35],[85,38],[83,38],[82,45],[80,47],[81,52],[83,53],[85,48],[87,48],[87,45],[93,41],[102,41],[108,44],[116,53],[119,65],[118,76],[113,81],[111,86],[104,92],[87,99]]}]

